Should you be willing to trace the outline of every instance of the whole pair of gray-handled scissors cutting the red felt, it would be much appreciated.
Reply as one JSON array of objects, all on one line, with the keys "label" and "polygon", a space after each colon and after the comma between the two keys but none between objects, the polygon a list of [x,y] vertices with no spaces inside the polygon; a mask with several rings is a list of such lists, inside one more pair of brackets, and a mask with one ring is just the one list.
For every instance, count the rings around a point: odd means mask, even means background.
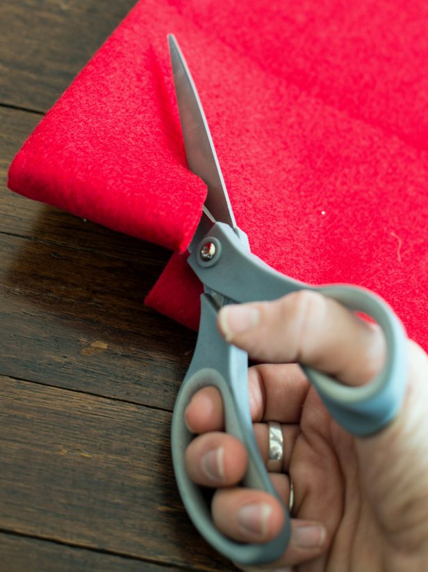
[{"label": "whole pair of gray-handled scissors cutting the red felt", "polygon": [[[317,290],[349,310],[369,315],[381,326],[386,362],[379,375],[361,387],[342,386],[329,376],[302,365],[331,415],[355,436],[369,436],[397,414],[404,398],[406,337],[393,311],[379,296],[359,287],[307,285],[275,271],[250,252],[247,235],[236,224],[206,117],[174,35],[168,35],[181,131],[188,166],[208,188],[201,220],[188,247],[188,264],[204,285],[195,353],[176,398],[172,418],[172,460],[183,504],[199,532],[222,555],[242,565],[267,564],[279,558],[290,541],[290,515],[279,535],[268,543],[240,543],[213,524],[204,491],[186,472],[184,456],[193,436],[184,415],[192,396],[206,386],[222,395],[225,430],[244,443],[248,468],[243,486],[260,488],[278,498],[258,452],[249,412],[248,356],[224,341],[217,330],[217,312],[227,303],[274,300],[302,289]],[[279,499],[280,500],[280,499]],[[281,502],[281,500],[280,500]]]}]

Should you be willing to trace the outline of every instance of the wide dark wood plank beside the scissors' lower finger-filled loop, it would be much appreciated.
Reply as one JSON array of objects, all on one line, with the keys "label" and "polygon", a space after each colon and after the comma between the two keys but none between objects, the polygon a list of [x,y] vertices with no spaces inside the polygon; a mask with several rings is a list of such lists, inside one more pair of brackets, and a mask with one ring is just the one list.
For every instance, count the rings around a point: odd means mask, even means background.
[{"label": "wide dark wood plank beside the scissors' lower finger-filled loop", "polygon": [[170,419],[0,377],[0,529],[157,564],[230,570],[179,501]]}]

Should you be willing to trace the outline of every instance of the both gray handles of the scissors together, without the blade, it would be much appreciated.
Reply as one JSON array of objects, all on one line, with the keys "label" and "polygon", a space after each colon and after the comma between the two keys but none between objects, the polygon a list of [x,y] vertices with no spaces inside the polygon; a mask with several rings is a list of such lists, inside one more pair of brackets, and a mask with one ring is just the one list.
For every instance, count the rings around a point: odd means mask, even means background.
[{"label": "both gray handles of the scissors together, without the blade", "polygon": [[[240,233],[238,233],[240,235]],[[242,236],[224,223],[215,223],[188,262],[206,290],[238,303],[274,300],[301,289],[318,290],[350,310],[370,315],[381,326],[386,340],[386,363],[365,386],[346,387],[311,367],[302,366],[331,415],[350,433],[369,436],[394,418],[406,388],[406,337],[389,306],[368,290],[345,285],[313,287],[274,271],[242,244]],[[206,243],[214,244],[211,260],[200,256]],[[224,342],[217,331],[217,307],[208,294],[201,296],[201,324],[197,347],[183,381],[172,420],[172,456],[183,503],[199,532],[220,553],[239,564],[265,564],[277,559],[288,546],[290,517],[279,537],[266,544],[242,544],[224,537],[213,525],[199,486],[192,483],[184,464],[192,434],[184,413],[192,395],[202,387],[216,386],[223,398],[227,432],[236,435],[249,456],[245,485],[277,494],[258,452],[249,415],[247,353]]]}]

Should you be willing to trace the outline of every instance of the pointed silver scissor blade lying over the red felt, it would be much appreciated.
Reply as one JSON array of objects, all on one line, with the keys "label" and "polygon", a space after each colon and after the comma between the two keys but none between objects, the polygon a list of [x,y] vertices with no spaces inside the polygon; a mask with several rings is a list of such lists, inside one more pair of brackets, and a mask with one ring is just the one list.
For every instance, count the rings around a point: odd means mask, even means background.
[{"label": "pointed silver scissor blade lying over the red felt", "polygon": [[168,35],[172,72],[188,166],[206,183],[205,205],[216,221],[236,227],[222,170],[195,83],[174,37]]}]

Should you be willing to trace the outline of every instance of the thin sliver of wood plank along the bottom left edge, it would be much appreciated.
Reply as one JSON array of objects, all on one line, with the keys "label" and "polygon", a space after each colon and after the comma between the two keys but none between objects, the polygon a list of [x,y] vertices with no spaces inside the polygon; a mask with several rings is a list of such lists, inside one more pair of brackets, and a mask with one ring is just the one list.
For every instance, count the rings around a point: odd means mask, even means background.
[{"label": "thin sliver of wood plank along the bottom left edge", "polygon": [[129,557],[103,554],[40,539],[0,533],[0,554],[7,572],[181,572]]}]

